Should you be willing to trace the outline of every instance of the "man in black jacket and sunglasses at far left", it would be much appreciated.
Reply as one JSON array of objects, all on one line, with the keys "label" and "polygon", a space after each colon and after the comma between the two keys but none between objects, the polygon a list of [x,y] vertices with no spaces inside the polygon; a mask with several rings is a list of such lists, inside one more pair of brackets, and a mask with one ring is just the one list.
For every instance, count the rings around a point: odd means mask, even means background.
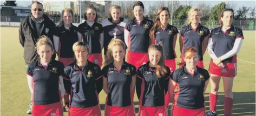
[{"label": "man in black jacket and sunglasses at far left", "polygon": [[[32,3],[30,15],[23,19],[21,25],[19,25],[19,43],[21,43],[22,47],[24,48],[23,57],[27,66],[39,58],[36,51],[36,42],[38,37],[45,35],[51,40],[51,42],[53,42],[52,35],[54,33],[54,28],[55,23],[44,14],[43,4],[40,2]],[[52,59],[55,58],[56,54],[54,53]],[[31,78],[28,78],[30,93],[32,92],[31,80]],[[32,101],[32,96],[30,100]],[[31,114],[32,104],[29,106],[30,108],[27,113]]]}]

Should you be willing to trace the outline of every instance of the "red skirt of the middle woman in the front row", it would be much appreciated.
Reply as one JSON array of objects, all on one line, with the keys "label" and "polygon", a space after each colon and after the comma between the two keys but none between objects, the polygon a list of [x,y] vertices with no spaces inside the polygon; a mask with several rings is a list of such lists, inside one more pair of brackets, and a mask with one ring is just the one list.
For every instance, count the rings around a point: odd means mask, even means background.
[{"label": "red skirt of the middle woman in the front row", "polygon": [[105,116],[135,116],[134,105],[117,107],[105,105]]}]

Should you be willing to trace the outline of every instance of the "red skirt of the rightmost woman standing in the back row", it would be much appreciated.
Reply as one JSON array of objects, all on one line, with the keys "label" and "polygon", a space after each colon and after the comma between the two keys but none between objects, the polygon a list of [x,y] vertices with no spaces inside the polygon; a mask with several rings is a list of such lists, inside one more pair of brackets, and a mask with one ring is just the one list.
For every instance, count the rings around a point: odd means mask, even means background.
[{"label": "red skirt of the rightmost woman standing in the back row", "polygon": [[211,61],[209,65],[209,73],[221,77],[235,77],[237,75],[237,63],[224,63],[224,65],[225,68],[220,69],[218,65]]}]

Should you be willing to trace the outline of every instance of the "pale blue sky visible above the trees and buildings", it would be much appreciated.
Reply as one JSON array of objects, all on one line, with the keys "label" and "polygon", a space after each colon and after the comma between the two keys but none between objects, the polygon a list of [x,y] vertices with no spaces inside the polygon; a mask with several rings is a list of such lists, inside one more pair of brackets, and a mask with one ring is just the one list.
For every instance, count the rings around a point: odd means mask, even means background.
[{"label": "pale blue sky visible above the trees and buildings", "polygon": [[[149,4],[156,4],[158,1],[142,1],[145,6],[148,6]],[[196,6],[202,2],[205,2],[206,4],[210,4],[211,6],[214,6],[222,1],[191,1],[191,4],[193,6]],[[248,7],[255,7],[255,1],[224,1],[226,3],[235,3],[237,5],[236,9],[239,9],[241,6],[245,5]],[[3,4],[4,1],[1,1],[1,4]],[[18,6],[28,6],[31,4],[31,1],[16,1]],[[188,4],[188,1],[180,1],[181,4]]]}]

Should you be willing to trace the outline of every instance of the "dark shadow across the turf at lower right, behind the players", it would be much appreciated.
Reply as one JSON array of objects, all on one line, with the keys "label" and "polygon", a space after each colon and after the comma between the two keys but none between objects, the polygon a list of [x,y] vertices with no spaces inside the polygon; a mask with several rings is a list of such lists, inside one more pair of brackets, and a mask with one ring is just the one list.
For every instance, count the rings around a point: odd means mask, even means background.
[{"label": "dark shadow across the turf at lower right, behind the players", "polygon": [[[205,93],[206,111],[209,111],[209,93]],[[234,103],[232,108],[232,116],[255,115],[255,92],[233,92]],[[217,101],[218,115],[224,115],[224,92],[219,92]],[[138,101],[134,105],[139,105]],[[105,109],[105,104],[100,104],[101,110]],[[170,107],[170,106],[169,106]],[[135,112],[138,113],[139,108],[135,107]]]}]

